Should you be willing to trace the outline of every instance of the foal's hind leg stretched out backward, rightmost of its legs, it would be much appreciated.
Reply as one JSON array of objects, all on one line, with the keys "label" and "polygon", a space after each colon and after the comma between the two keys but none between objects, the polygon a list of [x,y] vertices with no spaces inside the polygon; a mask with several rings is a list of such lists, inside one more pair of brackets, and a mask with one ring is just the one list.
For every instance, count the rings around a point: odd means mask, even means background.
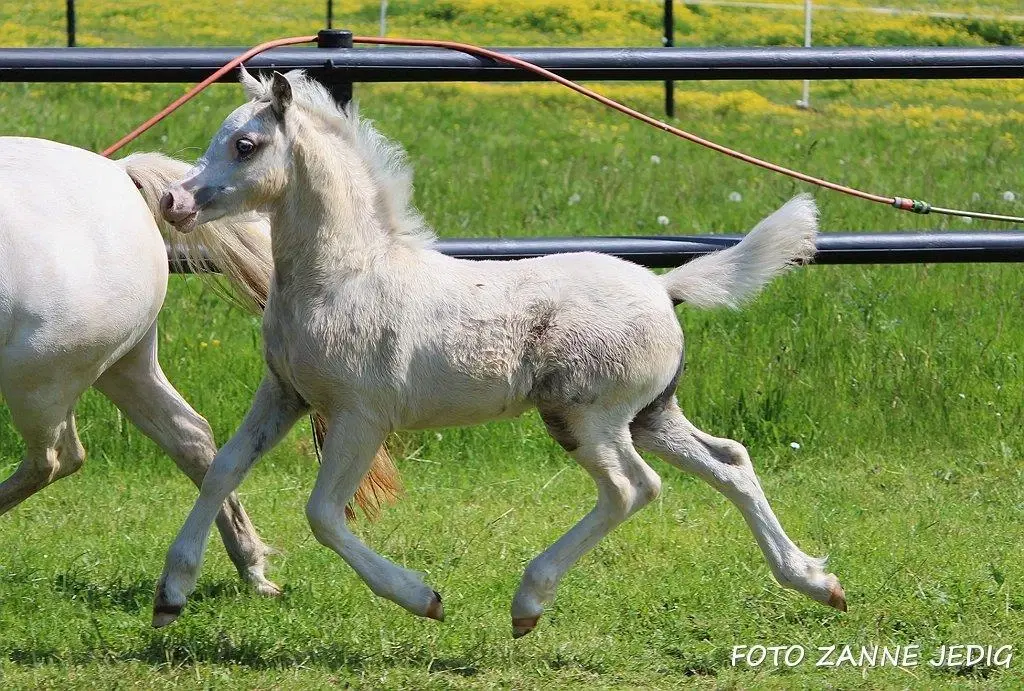
[{"label": "foal's hind leg stretched out backward, rightmost of its legs", "polygon": [[824,559],[804,554],[785,534],[742,444],[694,427],[675,398],[659,409],[641,413],[631,430],[637,446],[698,475],[739,509],[779,584],[846,611],[839,578],[824,570]]}]

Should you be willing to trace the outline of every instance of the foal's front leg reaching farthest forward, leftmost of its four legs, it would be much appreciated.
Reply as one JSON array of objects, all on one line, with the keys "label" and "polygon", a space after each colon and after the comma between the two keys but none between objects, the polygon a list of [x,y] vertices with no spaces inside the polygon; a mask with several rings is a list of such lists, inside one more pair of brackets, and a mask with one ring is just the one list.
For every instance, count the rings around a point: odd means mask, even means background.
[{"label": "foal's front leg reaching farthest forward, leftmost of its four legs", "polygon": [[185,600],[196,588],[210,528],[224,501],[253,464],[308,409],[289,384],[269,372],[263,377],[242,426],[214,458],[203,478],[199,499],[167,552],[153,605],[154,627],[165,627],[181,614]]}]

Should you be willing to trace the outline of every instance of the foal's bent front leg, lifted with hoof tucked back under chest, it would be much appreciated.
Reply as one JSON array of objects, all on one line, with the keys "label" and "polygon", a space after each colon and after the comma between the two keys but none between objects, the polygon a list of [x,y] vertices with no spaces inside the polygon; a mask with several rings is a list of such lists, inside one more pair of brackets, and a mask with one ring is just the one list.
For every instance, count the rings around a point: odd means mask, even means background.
[{"label": "foal's bent front leg, lifted with hoof tucked back under chest", "polygon": [[348,529],[345,505],[366,475],[387,430],[357,413],[335,415],[328,424],[323,463],[306,517],[313,535],[337,552],[375,594],[414,614],[444,620],[441,597],[415,571],[402,568],[367,547]]}]

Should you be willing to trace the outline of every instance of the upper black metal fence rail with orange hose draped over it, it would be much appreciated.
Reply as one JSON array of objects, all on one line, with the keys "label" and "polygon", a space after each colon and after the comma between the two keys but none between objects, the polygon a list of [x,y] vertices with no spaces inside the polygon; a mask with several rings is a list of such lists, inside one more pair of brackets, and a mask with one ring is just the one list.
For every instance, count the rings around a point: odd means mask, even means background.
[{"label": "upper black metal fence rail with orange hose draped over it", "polygon": [[[0,82],[198,82],[243,48],[3,48]],[[570,79],[1024,78],[1024,47],[509,48]],[[279,48],[250,70],[309,70],[325,82],[531,81],[489,59],[432,48]],[[227,75],[223,81],[233,81]]]}]

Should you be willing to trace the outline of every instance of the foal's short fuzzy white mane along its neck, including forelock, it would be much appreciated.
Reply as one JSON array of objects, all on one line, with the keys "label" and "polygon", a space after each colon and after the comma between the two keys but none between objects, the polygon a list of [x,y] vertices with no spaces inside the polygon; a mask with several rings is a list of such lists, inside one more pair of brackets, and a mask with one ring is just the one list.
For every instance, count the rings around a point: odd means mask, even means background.
[{"label": "foal's short fuzzy white mane along its neck, including forelock", "polygon": [[[377,212],[388,232],[416,245],[433,243],[434,231],[413,206],[413,168],[406,149],[378,132],[372,121],[360,118],[354,102],[346,107],[338,105],[334,96],[305,72],[293,70],[285,77],[292,85],[293,103],[331,127],[366,164],[378,189]],[[251,97],[270,100],[271,78],[261,76],[257,81],[244,75],[242,79]]]}]

